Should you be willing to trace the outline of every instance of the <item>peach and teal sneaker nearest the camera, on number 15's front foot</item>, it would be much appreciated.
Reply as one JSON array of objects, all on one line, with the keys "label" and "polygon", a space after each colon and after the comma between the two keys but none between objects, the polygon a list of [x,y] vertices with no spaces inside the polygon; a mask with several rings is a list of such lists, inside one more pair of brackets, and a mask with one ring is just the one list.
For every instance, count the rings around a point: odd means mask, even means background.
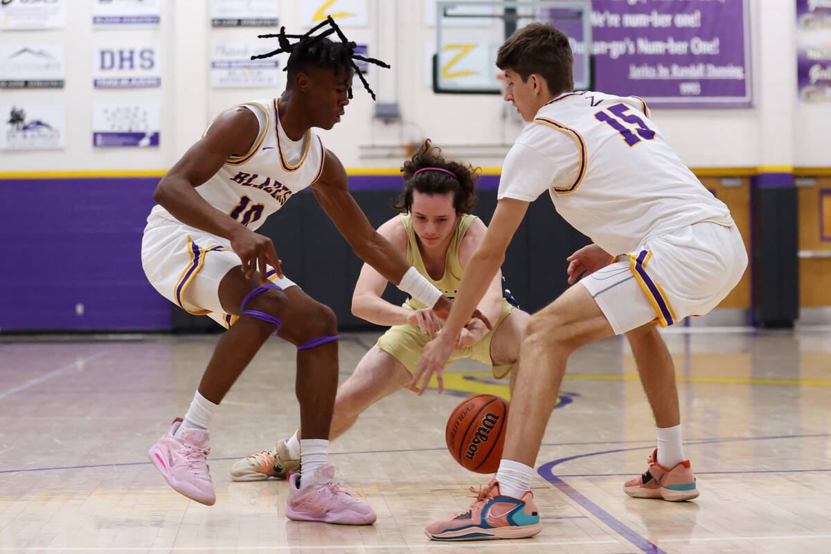
[{"label": "peach and teal sneaker nearest the camera, on number 15's front foot", "polygon": [[531,491],[522,498],[502,496],[499,483],[491,479],[464,512],[430,523],[425,533],[435,541],[482,541],[532,537],[542,529]]}]

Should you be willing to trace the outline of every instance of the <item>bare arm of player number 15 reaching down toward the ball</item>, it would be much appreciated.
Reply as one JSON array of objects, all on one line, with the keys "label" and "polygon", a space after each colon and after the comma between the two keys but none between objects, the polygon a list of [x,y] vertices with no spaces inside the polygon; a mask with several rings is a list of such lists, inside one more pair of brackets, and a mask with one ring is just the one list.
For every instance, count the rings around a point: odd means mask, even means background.
[{"label": "bare arm of player number 15 reaching down toward the ball", "polygon": [[[430,377],[435,373],[439,380],[439,392],[444,390],[442,373],[447,360],[459,341],[462,327],[470,321],[470,312],[484,297],[491,282],[493,282],[499,267],[505,259],[505,250],[511,239],[514,238],[519,223],[528,210],[528,202],[504,198],[496,204],[494,217],[490,220],[484,239],[470,257],[465,276],[459,285],[459,293],[450,308],[450,316],[439,336],[427,343],[424,355],[421,356],[416,373],[410,383],[411,390],[418,390],[423,395],[430,383]],[[421,381],[423,380],[423,383]]]}]

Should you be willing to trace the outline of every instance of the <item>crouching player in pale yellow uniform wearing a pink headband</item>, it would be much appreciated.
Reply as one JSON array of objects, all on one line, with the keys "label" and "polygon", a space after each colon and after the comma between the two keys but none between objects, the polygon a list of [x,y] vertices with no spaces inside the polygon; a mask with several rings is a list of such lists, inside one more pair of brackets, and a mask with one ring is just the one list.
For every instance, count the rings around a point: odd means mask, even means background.
[{"label": "crouching player in pale yellow uniform wearing a pink headband", "polygon": [[[470,214],[476,201],[475,179],[470,166],[444,159],[427,140],[401,168],[405,190],[395,208],[401,215],[390,219],[378,233],[406,256],[407,262],[447,297],[454,297],[470,255],[481,243],[484,223]],[[416,299],[396,306],[381,298],[387,279],[364,264],[352,295],[352,313],[377,325],[391,326],[375,346],[361,358],[349,379],[337,390],[329,439],[336,439],[352,427],[363,410],[405,387],[412,380],[427,341],[443,321]],[[512,304],[503,292],[497,271],[479,310],[494,321],[489,331],[478,319],[461,331],[449,362],[473,358],[493,367],[494,377],[511,373],[514,382],[519,342],[528,314]],[[234,464],[234,481],[285,478],[300,464],[298,432],[279,441],[272,450],[253,454]]]}]

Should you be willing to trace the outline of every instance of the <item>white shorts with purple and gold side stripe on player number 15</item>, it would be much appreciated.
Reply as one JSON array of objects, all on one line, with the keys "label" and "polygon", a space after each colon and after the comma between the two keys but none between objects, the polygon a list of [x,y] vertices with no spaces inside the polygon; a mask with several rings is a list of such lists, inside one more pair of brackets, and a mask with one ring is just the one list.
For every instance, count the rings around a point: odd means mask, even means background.
[{"label": "white shorts with purple and gold side stripe on player number 15", "polygon": [[615,334],[650,321],[703,316],[739,282],[747,251],[739,230],[702,222],[644,241],[580,281]]}]

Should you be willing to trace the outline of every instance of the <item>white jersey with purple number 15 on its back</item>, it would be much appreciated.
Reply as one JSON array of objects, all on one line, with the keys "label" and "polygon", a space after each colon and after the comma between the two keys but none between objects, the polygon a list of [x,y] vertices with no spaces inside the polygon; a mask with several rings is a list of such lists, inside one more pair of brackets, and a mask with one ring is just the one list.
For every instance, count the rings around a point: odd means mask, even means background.
[{"label": "white jersey with purple number 15 on its back", "polygon": [[692,223],[733,225],[637,96],[569,92],[538,110],[505,158],[498,198],[530,202],[546,189],[558,213],[611,254]]}]

